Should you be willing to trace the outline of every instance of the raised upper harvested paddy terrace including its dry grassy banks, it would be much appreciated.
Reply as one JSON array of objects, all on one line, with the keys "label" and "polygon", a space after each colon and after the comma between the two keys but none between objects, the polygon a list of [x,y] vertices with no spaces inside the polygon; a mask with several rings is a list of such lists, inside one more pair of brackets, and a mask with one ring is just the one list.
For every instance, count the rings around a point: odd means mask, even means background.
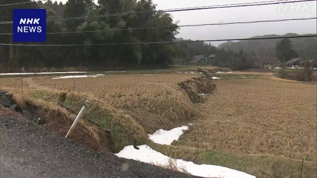
[{"label": "raised upper harvested paddy terrace including its dry grassy banks", "polygon": [[[158,129],[172,129],[193,119],[196,114],[194,105],[187,91],[182,90],[178,84],[191,81],[190,88],[197,100],[202,102],[204,99],[198,92],[212,85],[205,78],[199,79],[196,86],[193,78],[201,76],[199,73],[181,73],[69,79],[18,77],[2,78],[1,88],[13,92],[17,96],[16,100],[40,102],[44,106],[48,105],[46,108],[50,108],[52,104],[65,107],[67,113],[61,115],[71,119],[81,109],[83,101],[88,99],[91,107],[84,117],[98,124],[100,128],[96,132],[108,132],[111,148],[117,152],[125,145],[146,142],[147,133],[152,134]],[[204,89],[212,90],[213,87]]]}]

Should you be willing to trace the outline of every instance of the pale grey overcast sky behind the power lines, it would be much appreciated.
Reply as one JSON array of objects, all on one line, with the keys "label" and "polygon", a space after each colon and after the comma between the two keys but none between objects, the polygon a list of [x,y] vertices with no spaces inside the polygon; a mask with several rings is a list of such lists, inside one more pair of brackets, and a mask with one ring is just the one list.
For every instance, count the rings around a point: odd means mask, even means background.
[{"label": "pale grey overcast sky behind the power lines", "polygon": [[[54,2],[54,0],[52,1]],[[60,1],[65,3],[67,0],[57,0],[57,2]],[[153,0],[153,2],[157,4],[158,10],[262,1],[268,0]],[[97,2],[97,0],[95,0],[95,2]],[[279,5],[262,5],[171,12],[174,22],[179,21],[179,25],[306,18],[316,17],[316,14],[316,1],[287,3],[284,7],[280,6],[280,8]],[[256,35],[284,35],[286,33],[306,34],[317,33],[317,21],[314,19],[305,21],[183,27],[179,32],[179,35],[177,35],[178,38],[182,37],[192,40],[249,38]],[[222,42],[213,42],[212,44],[218,45],[220,43]]]}]

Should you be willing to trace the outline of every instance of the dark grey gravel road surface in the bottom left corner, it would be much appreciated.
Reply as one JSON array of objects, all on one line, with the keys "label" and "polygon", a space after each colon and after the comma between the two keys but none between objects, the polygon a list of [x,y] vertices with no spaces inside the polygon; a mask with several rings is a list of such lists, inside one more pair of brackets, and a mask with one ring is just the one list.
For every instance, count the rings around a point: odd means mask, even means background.
[{"label": "dark grey gravel road surface in the bottom left corner", "polygon": [[[0,106],[1,107],[1,106]],[[0,177],[195,177],[97,152],[0,110]],[[123,165],[129,165],[126,171]]]}]

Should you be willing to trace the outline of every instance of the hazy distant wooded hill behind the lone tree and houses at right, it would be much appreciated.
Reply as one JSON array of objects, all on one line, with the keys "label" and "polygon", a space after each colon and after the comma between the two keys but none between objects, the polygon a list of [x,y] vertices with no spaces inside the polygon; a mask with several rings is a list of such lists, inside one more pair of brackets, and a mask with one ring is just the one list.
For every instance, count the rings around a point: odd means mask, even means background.
[{"label": "hazy distant wooded hill behind the lone tree and houses at right", "polygon": [[[254,36],[252,38],[264,38],[264,37],[283,37],[283,36],[297,36],[295,33],[287,33],[285,35],[263,35]],[[304,34],[304,35],[316,35],[316,34]],[[294,44],[294,50],[298,53],[300,57],[309,60],[315,60],[317,58],[317,38],[291,38]],[[234,51],[239,51],[243,49],[244,52],[257,55],[260,57],[275,57],[275,45],[277,41],[281,39],[271,39],[271,40],[249,40],[249,41],[228,41],[220,44],[219,48],[233,49]]]}]

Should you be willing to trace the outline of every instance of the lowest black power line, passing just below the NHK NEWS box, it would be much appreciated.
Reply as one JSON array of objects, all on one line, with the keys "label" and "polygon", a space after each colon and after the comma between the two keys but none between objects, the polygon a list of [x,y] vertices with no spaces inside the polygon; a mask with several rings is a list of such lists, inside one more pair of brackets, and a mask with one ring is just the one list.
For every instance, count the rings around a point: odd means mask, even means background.
[{"label": "lowest black power line, passing just below the NHK NEWS box", "polygon": [[197,41],[162,41],[162,42],[139,42],[139,43],[106,43],[106,44],[4,44],[8,46],[104,46],[104,45],[142,45],[142,44],[171,44],[171,43],[189,43],[189,42],[208,42],[208,41],[247,41],[247,40],[268,40],[268,39],[285,39],[285,38],[307,38],[317,37],[317,35],[300,35],[300,36],[283,36],[283,37],[266,37],[266,38],[236,38],[236,39],[219,39],[219,40],[197,40]]}]

